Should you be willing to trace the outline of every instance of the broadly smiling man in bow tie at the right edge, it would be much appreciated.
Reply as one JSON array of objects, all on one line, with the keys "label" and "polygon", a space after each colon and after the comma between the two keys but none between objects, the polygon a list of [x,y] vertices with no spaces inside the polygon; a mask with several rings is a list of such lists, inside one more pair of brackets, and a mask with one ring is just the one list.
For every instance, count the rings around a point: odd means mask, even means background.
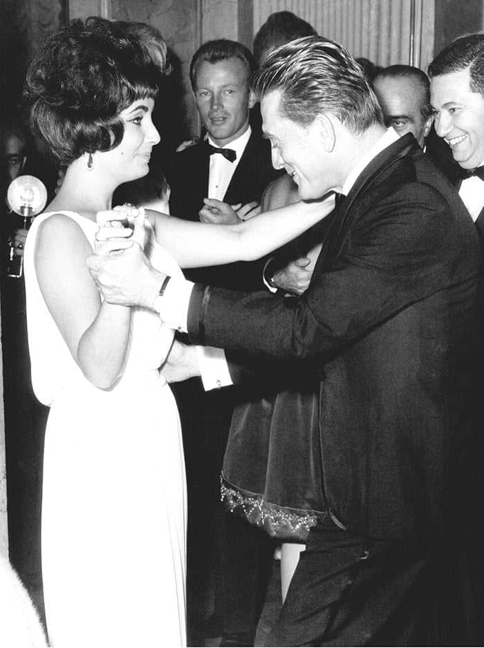
[{"label": "broadly smiling man in bow tie at the right edge", "polygon": [[452,151],[441,166],[484,244],[484,35],[458,38],[429,65],[435,129]]}]

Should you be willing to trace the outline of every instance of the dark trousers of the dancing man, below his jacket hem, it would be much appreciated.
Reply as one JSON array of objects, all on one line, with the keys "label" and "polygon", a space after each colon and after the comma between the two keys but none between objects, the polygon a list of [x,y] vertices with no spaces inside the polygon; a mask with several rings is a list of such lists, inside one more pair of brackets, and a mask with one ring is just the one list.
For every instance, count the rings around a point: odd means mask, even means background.
[{"label": "dark trousers of the dancing man, below his jacket hem", "polygon": [[266,646],[482,645],[481,569],[462,543],[310,531]]}]

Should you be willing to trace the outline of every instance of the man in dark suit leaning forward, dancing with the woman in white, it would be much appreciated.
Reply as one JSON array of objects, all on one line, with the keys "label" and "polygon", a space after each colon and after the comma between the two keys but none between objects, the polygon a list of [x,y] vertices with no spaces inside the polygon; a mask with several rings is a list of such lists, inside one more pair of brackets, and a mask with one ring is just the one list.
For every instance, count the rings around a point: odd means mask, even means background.
[{"label": "man in dark suit leaning forward, dancing with the woman in white", "polygon": [[127,281],[131,295],[140,285],[136,301],[195,343],[317,364],[326,517],[310,529],[266,645],[474,645],[463,544],[476,458],[476,230],[414,137],[384,127],[342,46],[283,46],[254,87],[274,166],[303,200],[342,197],[304,296],[167,283],[138,248],[89,266],[108,301],[126,303]]}]

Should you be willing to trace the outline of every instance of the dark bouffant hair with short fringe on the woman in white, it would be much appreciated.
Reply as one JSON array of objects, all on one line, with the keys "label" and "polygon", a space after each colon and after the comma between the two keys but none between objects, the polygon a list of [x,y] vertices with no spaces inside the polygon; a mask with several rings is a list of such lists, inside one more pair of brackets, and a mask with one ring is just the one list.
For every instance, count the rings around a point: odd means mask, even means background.
[{"label": "dark bouffant hair with short fringe on the woman in white", "polygon": [[31,122],[62,164],[120,144],[120,113],[154,98],[159,70],[145,46],[108,20],[91,17],[57,30],[30,64]]}]

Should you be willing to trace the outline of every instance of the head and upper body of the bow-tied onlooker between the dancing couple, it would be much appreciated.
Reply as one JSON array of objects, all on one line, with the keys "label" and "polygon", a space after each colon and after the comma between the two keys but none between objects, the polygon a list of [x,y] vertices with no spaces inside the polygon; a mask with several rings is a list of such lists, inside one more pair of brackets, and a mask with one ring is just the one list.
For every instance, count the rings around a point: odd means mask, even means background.
[{"label": "head and upper body of the bow-tied onlooker between the dancing couple", "polygon": [[[254,68],[250,51],[236,41],[209,41],[194,54],[190,80],[207,137],[176,153],[167,169],[174,216],[199,220],[204,198],[253,206],[280,175],[272,167],[269,142],[249,124],[256,103],[249,83]],[[196,269],[189,276],[232,289],[261,285],[259,267],[249,263]]]}]

